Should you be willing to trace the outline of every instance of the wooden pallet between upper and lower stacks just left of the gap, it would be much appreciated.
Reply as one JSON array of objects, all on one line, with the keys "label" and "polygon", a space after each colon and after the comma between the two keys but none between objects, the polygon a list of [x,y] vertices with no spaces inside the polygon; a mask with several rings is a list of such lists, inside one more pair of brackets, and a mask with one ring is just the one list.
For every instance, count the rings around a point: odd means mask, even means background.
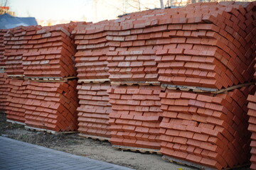
[{"label": "wooden pallet between upper and lower stacks just left of the gap", "polygon": [[77,77],[25,77],[25,79],[38,82],[67,82],[70,79],[77,79]]}]

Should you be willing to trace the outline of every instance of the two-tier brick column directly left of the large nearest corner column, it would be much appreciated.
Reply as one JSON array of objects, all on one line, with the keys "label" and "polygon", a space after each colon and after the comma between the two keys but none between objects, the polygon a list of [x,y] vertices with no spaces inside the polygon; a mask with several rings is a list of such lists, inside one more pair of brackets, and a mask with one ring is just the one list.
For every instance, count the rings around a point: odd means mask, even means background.
[{"label": "two-tier brick column directly left of the large nearest corner column", "polygon": [[110,81],[113,84],[133,84],[113,86],[109,91],[112,104],[110,142],[122,147],[159,150],[161,87],[157,85],[154,60],[157,38],[161,38],[161,31],[166,28],[154,27],[156,23],[146,16],[148,13],[151,11],[119,18],[114,21],[119,26],[112,27],[107,37],[110,44],[107,52]]}]

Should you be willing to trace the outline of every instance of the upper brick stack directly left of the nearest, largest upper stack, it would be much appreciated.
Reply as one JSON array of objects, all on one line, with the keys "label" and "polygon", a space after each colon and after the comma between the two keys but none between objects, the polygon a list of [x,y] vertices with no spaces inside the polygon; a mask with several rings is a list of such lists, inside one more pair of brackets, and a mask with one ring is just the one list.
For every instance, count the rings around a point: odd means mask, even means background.
[{"label": "upper brick stack directly left of the nearest, largest upper stack", "polygon": [[167,26],[158,26],[156,11],[132,13],[115,21],[119,26],[107,37],[111,81],[157,81],[156,50]]}]

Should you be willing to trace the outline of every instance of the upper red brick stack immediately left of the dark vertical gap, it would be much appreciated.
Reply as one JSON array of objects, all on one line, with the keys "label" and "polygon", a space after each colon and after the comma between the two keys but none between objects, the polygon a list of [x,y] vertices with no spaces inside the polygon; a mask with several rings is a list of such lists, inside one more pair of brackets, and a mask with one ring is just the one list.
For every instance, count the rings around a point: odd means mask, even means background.
[{"label": "upper red brick stack immediately left of the dark vertical gap", "polygon": [[74,77],[75,44],[70,33],[76,23],[28,26],[22,64],[26,77]]}]

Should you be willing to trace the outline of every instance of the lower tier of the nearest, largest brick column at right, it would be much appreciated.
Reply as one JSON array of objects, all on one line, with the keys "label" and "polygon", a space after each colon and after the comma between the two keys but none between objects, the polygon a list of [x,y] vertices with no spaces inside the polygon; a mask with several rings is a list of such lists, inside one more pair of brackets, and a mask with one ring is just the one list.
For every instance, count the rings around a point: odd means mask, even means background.
[{"label": "lower tier of the nearest, largest brick column at right", "polygon": [[246,98],[253,88],[217,95],[166,89],[160,94],[161,153],[215,169],[247,163]]}]

